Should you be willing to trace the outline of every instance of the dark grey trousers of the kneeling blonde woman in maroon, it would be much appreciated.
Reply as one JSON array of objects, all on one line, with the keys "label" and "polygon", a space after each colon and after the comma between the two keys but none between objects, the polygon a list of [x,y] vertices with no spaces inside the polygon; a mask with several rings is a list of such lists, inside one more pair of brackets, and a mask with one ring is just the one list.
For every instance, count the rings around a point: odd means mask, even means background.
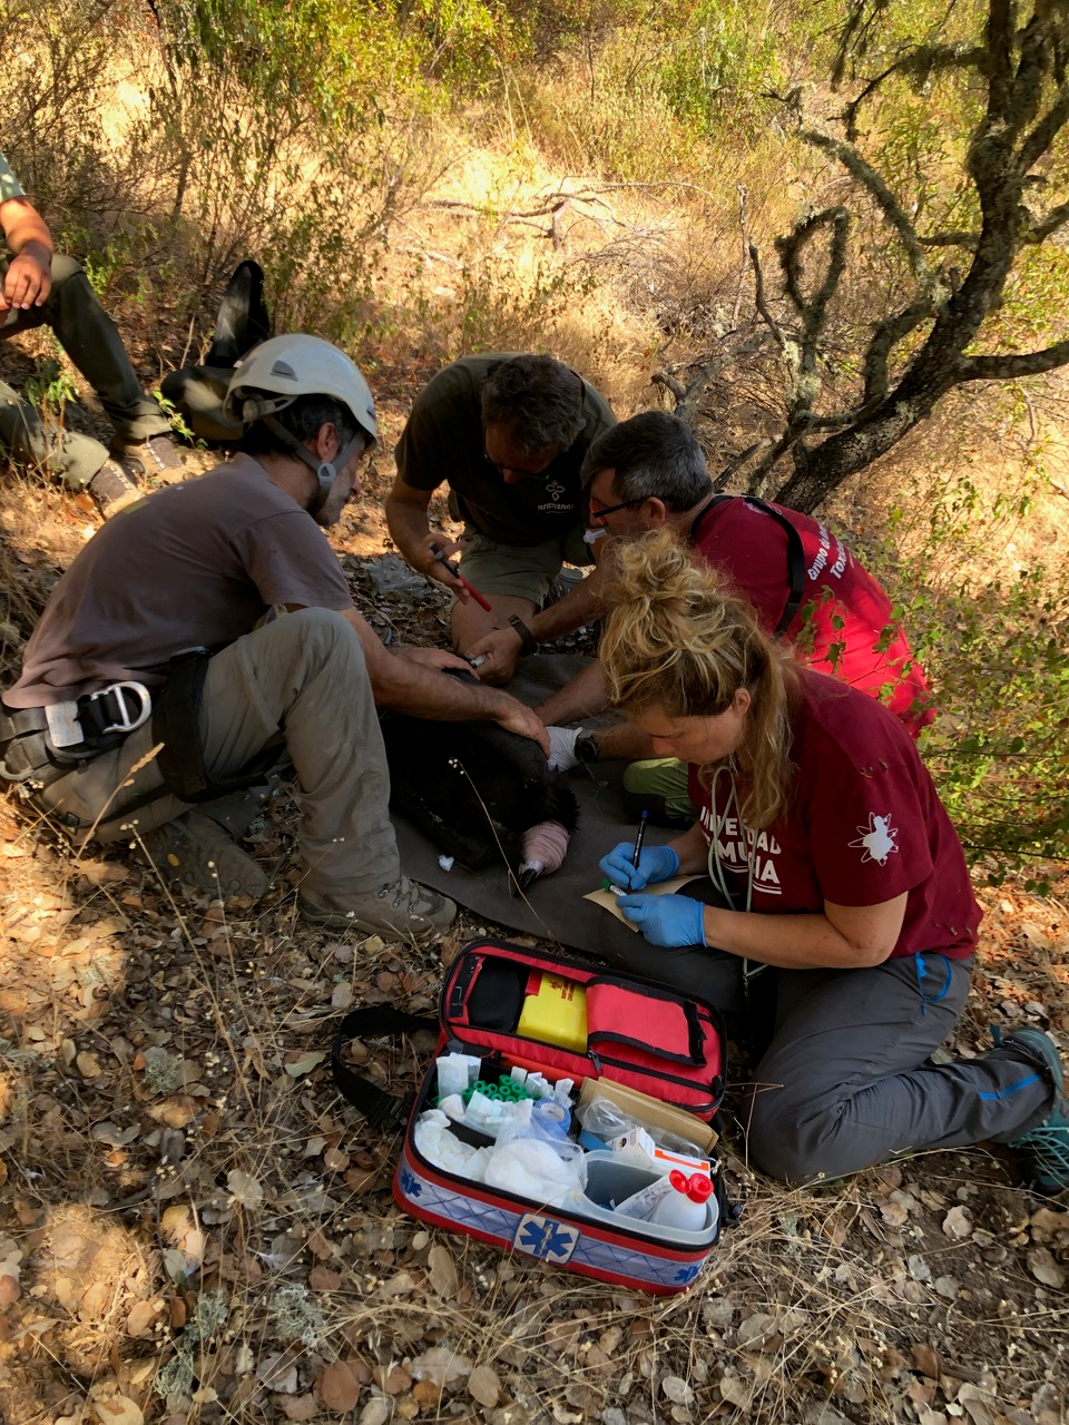
[{"label": "dark grey trousers of the kneeling blonde woman in maroon", "polygon": [[[721,903],[704,878],[683,893]],[[745,1015],[737,955],[666,950],[607,913],[599,950],[620,969],[700,995],[728,1023]],[[1042,1123],[1053,1089],[1012,1046],[958,1063],[926,1062],[961,1016],[971,963],[928,953],[868,969],[764,969],[754,995],[771,978],[775,1009],[745,1114],[754,1166],[805,1183],[895,1153],[1006,1143]]]}]

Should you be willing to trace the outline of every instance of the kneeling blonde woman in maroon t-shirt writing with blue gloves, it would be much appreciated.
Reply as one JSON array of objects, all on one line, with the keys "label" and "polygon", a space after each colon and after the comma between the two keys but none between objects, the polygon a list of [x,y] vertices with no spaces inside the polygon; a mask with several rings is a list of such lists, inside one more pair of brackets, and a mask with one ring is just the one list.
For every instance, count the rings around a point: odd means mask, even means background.
[{"label": "kneeling blonde woman in maroon t-shirt writing with blue gloves", "polygon": [[[657,755],[690,765],[700,808],[637,865],[627,842],[601,861],[640,931],[606,916],[601,952],[728,1016],[764,1005],[751,1160],[804,1181],[995,1139],[1045,1190],[1069,1186],[1046,1035],[928,1063],[964,1007],[981,913],[897,718],[792,664],[671,533],[620,550],[600,657],[611,700]],[[690,884],[647,889],[676,876]]]}]

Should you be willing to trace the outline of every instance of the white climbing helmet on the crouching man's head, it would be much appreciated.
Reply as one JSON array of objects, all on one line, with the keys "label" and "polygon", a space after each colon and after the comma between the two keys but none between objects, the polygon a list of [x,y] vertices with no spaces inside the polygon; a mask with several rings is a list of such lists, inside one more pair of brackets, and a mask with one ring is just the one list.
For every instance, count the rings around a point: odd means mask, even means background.
[{"label": "white climbing helmet on the crouching man's head", "polygon": [[298,396],[332,396],[348,406],[372,442],[378,440],[368,382],[345,352],[321,336],[272,336],[254,346],[231,376],[222,409],[228,419],[252,425],[285,410]]}]

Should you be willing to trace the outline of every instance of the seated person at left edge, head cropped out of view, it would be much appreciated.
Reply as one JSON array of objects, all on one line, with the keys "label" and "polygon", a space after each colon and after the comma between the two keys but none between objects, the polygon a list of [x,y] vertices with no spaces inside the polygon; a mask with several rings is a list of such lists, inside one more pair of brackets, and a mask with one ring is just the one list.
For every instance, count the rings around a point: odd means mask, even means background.
[{"label": "seated person at left edge, head cropped out of view", "polygon": [[181,475],[171,426],[145,395],[115,323],[71,258],[56,256],[47,224],[0,154],[0,338],[51,326],[115,428],[111,449],[76,430],[46,429],[40,413],[0,382],[0,446],[20,465],[40,465],[73,489],[88,489],[105,514],[141,493],[148,475]]}]

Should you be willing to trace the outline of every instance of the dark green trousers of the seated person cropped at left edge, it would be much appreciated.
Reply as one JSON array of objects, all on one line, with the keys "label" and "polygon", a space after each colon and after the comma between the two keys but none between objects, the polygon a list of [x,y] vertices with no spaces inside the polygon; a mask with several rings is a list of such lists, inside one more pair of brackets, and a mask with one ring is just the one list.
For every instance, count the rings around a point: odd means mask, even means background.
[{"label": "dark green trousers of the seated person cropped at left edge", "polygon": [[[0,281],[6,272],[7,262],[0,261]],[[0,338],[33,326],[51,326],[121,436],[147,440],[170,435],[171,425],[141,389],[115,323],[71,258],[51,259],[51,291],[43,306],[0,316]],[[87,486],[108,457],[93,436],[46,426],[37,409],[4,382],[0,382],[0,445],[17,463],[46,466],[74,489]]]}]

